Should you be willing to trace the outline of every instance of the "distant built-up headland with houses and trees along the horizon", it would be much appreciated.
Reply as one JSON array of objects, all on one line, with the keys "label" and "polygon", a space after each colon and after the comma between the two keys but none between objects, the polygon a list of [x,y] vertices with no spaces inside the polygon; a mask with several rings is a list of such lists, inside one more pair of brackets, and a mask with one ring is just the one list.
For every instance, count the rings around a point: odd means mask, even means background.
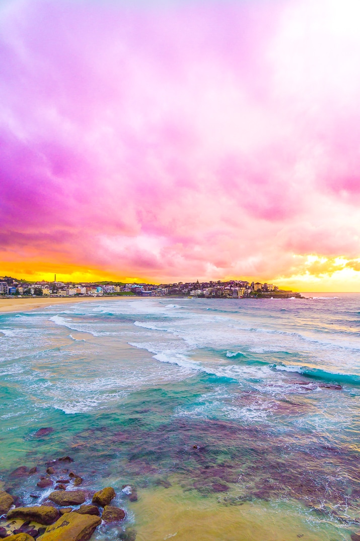
[{"label": "distant built-up headland with houses and trees along the horizon", "polygon": [[177,283],[123,283],[123,282],[62,282],[41,280],[35,283],[0,276],[1,296],[177,296],[216,299],[238,298],[301,298],[296,292],[279,289],[272,283],[248,282],[245,280],[177,282]]}]

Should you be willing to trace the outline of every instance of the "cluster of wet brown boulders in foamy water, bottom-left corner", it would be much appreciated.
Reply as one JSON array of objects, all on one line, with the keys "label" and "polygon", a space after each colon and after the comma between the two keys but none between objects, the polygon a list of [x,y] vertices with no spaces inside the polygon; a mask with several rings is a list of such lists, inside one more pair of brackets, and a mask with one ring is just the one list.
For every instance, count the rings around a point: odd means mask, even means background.
[{"label": "cluster of wet brown boulders in foamy water, bottom-left corner", "polygon": [[[38,505],[22,506],[11,490],[0,491],[0,539],[7,541],[88,541],[96,528],[103,525],[119,530],[119,539],[134,541],[134,530],[124,531],[121,524],[126,512],[111,505],[116,497],[113,487],[97,492],[79,489],[83,479],[64,465],[72,463],[70,457],[53,460],[46,466],[45,474],[36,467],[25,466],[12,472],[14,477],[34,476],[37,489],[31,498],[41,500]],[[36,477],[35,477],[36,476]],[[54,490],[49,489],[54,487]],[[39,493],[41,489],[43,493]],[[136,502],[137,492],[131,485],[123,485],[122,494]]]}]

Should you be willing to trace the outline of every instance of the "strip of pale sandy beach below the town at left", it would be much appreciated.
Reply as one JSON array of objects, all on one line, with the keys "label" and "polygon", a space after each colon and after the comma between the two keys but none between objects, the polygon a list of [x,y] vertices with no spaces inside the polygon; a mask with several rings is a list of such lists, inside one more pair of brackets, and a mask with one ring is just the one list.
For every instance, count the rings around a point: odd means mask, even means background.
[{"label": "strip of pale sandy beach below the town at left", "polygon": [[29,312],[30,310],[35,310],[37,308],[43,308],[45,306],[51,305],[62,305],[69,304],[73,302],[94,302],[99,300],[119,300],[127,299],[126,296],[116,296],[116,297],[46,297],[46,298],[30,298],[30,299],[0,299],[0,314],[4,312]]}]

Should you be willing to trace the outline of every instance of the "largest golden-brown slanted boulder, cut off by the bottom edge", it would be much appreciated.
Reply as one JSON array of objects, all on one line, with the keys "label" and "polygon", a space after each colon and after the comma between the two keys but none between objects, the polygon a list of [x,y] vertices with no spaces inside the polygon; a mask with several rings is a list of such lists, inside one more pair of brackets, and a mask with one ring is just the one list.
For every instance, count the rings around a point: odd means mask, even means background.
[{"label": "largest golden-brown slanted boulder, cut off by the bottom edge", "polygon": [[48,526],[37,541],[88,541],[101,518],[90,514],[66,513]]}]

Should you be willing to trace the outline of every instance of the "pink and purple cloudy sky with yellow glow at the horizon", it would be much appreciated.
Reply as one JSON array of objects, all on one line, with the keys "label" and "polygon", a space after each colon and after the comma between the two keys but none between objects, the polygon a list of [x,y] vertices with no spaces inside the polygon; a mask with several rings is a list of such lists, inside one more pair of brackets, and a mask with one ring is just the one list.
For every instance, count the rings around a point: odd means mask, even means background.
[{"label": "pink and purple cloudy sky with yellow glow at the horizon", "polygon": [[0,273],[360,291],[358,0],[3,0]]}]

